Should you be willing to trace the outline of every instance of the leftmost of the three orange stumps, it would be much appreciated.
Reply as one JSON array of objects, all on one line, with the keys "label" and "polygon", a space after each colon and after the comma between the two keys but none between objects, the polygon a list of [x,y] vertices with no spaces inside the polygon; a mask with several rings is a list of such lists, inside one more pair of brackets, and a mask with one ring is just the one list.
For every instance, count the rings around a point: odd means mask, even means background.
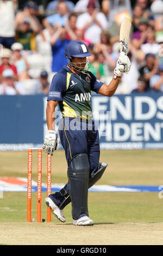
[{"label": "leftmost of the three orange stumps", "polygon": [[27,222],[31,222],[32,203],[32,149],[28,149]]}]

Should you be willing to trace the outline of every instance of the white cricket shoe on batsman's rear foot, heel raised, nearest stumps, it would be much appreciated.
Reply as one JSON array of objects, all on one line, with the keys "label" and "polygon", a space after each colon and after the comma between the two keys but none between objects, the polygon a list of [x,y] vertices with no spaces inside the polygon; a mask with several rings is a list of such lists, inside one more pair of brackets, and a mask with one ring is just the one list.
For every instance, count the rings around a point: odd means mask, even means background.
[{"label": "white cricket shoe on batsman's rear foot, heel raised, nearest stumps", "polygon": [[58,218],[59,221],[65,222],[66,218],[63,215],[64,210],[60,210],[59,207],[54,204],[53,200],[49,197],[45,198],[46,205],[53,210],[53,214]]}]

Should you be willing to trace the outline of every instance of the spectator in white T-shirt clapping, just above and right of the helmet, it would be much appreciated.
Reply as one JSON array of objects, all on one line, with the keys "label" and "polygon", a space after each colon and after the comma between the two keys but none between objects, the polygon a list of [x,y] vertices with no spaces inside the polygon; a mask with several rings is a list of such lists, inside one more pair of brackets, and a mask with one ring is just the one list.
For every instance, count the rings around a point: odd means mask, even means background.
[{"label": "spectator in white T-shirt clapping, just above and right of the helmet", "polygon": [[108,21],[103,13],[98,12],[94,1],[90,0],[87,12],[80,14],[77,19],[77,28],[85,31],[85,38],[93,44],[100,42],[101,32],[106,29]]}]

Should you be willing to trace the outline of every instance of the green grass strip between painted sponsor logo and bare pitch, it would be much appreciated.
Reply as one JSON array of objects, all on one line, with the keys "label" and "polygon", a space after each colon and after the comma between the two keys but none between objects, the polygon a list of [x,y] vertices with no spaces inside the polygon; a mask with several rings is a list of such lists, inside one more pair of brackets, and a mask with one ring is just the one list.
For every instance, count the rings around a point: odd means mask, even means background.
[{"label": "green grass strip between painted sponsor logo and bare pitch", "polygon": [[[42,199],[46,193],[42,194]],[[43,200],[42,200],[43,201]],[[163,222],[163,199],[157,193],[119,193],[119,192],[90,192],[89,213],[95,223],[115,222]],[[64,210],[66,223],[72,223],[71,205]],[[1,199],[0,222],[26,222],[27,196],[26,193],[5,192]],[[36,193],[32,202],[32,218],[36,221]],[[47,208],[42,202],[42,218],[47,219]],[[60,223],[52,215],[53,223]]]}]

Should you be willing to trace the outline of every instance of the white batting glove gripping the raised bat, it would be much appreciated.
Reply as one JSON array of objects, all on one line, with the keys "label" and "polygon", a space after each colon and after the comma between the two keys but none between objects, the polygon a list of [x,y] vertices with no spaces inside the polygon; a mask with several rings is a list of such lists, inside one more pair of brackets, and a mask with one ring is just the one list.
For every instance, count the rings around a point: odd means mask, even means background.
[{"label": "white batting glove gripping the raised bat", "polygon": [[120,57],[117,60],[116,68],[114,70],[115,76],[122,76],[123,73],[128,74],[130,71],[130,60],[128,56],[124,53],[120,53]]}]

